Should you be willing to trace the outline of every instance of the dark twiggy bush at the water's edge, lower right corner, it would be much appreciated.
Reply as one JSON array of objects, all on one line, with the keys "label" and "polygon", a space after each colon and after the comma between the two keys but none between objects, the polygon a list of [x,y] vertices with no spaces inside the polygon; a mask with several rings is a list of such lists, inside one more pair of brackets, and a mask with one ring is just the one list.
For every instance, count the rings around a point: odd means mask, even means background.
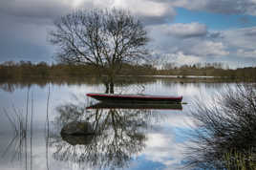
[{"label": "dark twiggy bush at the water's edge, lower right corner", "polygon": [[211,105],[196,103],[198,129],[188,148],[187,165],[206,169],[256,168],[255,85],[228,87]]}]

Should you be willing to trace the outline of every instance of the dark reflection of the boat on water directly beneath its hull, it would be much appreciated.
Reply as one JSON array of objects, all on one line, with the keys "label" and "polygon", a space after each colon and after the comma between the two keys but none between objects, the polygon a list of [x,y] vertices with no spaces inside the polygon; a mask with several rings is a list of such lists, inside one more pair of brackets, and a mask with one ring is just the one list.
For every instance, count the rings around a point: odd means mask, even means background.
[{"label": "dark reflection of the boat on water directly beneath its hull", "polygon": [[147,104],[147,103],[110,103],[99,102],[88,106],[86,109],[164,109],[164,110],[182,110],[181,104]]}]

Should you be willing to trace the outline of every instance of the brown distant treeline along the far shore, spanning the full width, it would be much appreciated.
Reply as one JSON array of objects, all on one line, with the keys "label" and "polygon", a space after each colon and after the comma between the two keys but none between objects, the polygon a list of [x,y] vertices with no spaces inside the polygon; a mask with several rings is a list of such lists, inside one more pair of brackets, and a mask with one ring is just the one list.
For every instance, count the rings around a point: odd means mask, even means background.
[{"label": "brown distant treeline along the far shore, spanning the full width", "polygon": [[[256,81],[256,67],[229,69],[222,63],[205,63],[176,66],[165,64],[157,69],[150,64],[124,64],[121,75],[187,75],[219,76],[233,80]],[[32,63],[31,61],[6,61],[0,64],[0,79],[19,79],[24,77],[83,77],[96,76],[97,70],[91,65],[47,64],[46,62]]]}]

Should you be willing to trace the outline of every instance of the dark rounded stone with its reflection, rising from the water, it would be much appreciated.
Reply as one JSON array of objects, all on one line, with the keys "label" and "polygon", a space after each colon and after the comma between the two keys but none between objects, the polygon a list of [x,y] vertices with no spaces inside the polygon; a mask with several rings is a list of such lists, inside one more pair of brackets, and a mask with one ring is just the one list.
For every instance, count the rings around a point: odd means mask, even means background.
[{"label": "dark rounded stone with its reflection, rising from the water", "polygon": [[71,145],[87,145],[92,142],[96,133],[89,122],[73,121],[61,129],[60,135]]}]

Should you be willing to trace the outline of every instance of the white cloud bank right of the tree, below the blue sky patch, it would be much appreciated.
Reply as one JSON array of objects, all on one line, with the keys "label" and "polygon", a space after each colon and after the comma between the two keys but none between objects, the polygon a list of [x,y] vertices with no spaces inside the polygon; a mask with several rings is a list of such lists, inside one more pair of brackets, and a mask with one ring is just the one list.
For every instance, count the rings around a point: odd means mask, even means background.
[{"label": "white cloud bank right of the tree, below the blue sky patch", "polygon": [[[254,54],[256,27],[216,32],[205,31],[203,29],[205,27],[200,24],[194,24],[194,26],[197,25],[195,27],[192,27],[193,24],[174,25],[173,32],[170,32],[171,26],[166,24],[148,27],[150,37],[153,39],[151,50],[153,49],[154,53],[152,55],[161,58],[160,63],[162,61],[175,62],[181,65],[197,62],[223,62],[231,68],[255,65],[253,58],[256,56]],[[187,29],[188,31],[185,32],[184,28],[198,29]],[[178,36],[179,33],[180,36]]]}]

